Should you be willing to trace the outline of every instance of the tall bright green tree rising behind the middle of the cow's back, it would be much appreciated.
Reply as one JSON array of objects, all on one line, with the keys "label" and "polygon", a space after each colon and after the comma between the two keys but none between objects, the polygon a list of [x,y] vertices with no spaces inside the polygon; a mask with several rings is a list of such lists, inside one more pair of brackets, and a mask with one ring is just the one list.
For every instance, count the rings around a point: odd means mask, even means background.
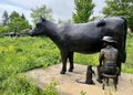
[{"label": "tall bright green tree rising behind the middle of the cow's back", "polygon": [[73,21],[75,23],[88,22],[91,20],[91,14],[95,4],[92,0],[74,0],[75,13],[73,12]]}]

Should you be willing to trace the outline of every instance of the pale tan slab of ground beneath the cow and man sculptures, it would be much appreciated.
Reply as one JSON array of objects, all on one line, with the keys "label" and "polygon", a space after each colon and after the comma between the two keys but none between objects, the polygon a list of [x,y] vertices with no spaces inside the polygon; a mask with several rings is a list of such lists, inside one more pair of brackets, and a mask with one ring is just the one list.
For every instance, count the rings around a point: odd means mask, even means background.
[{"label": "pale tan slab of ground beneath the cow and man sculptures", "polygon": [[[133,94],[133,74],[122,73],[119,77],[117,91],[113,86],[113,81],[110,81],[110,85],[102,89],[102,84],[96,82],[98,74],[93,76],[95,85],[88,85],[78,83],[85,81],[86,65],[74,64],[75,68],[72,73],[66,72],[64,75],[60,74],[62,64],[49,66],[48,68],[35,68],[27,72],[29,77],[32,77],[40,87],[44,87],[45,84],[51,82],[58,83],[58,91],[60,95],[132,95]],[[68,64],[69,67],[69,64]],[[96,73],[96,68],[93,67]]]}]

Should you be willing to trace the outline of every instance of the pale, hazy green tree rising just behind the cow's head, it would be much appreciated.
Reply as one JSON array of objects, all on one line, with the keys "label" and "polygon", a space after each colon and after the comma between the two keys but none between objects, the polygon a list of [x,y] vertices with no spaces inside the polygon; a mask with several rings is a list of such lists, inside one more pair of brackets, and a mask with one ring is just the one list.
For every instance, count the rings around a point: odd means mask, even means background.
[{"label": "pale, hazy green tree rising just behind the cow's head", "polygon": [[35,9],[31,9],[32,13],[31,13],[31,18],[33,19],[33,23],[37,23],[38,19],[40,17],[45,18],[48,20],[53,21],[52,19],[52,9],[48,9],[47,6],[42,6],[42,7],[37,7]]}]

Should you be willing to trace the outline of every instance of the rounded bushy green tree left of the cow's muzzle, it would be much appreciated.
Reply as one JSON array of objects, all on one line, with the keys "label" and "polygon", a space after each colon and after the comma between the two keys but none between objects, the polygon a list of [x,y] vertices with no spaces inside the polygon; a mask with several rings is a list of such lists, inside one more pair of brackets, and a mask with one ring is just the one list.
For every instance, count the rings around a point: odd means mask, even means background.
[{"label": "rounded bushy green tree left of the cow's muzzle", "polygon": [[30,29],[30,24],[27,20],[23,20],[22,18],[14,18],[9,23],[10,31],[17,30],[20,32],[23,29]]}]

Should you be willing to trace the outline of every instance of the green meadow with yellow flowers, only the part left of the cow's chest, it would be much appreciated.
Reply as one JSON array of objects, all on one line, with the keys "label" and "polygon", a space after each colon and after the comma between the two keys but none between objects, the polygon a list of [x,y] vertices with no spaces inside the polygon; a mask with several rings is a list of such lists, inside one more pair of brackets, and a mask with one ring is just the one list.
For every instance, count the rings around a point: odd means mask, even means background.
[{"label": "green meadow with yellow flowers, only the part left of the cow's chest", "polygon": [[[49,39],[0,38],[0,95],[49,95],[35,94],[38,87],[22,73],[60,62],[59,51]],[[51,85],[47,88],[51,88]],[[52,89],[47,92],[55,93]]]}]

